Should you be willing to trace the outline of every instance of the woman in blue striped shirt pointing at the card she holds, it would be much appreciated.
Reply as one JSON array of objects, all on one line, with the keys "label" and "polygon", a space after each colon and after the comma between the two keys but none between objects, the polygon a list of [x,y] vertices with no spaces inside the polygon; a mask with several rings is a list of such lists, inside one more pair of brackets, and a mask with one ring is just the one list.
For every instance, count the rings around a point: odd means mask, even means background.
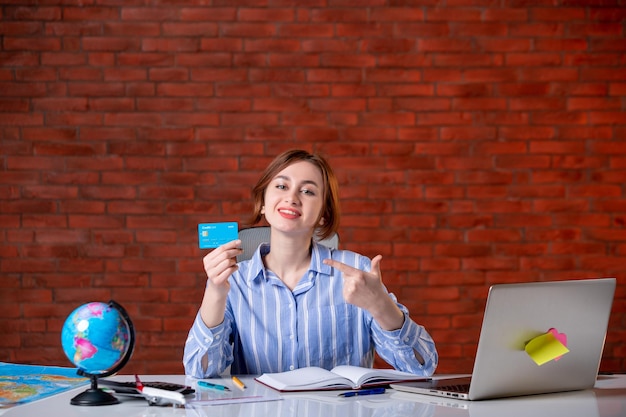
[{"label": "woman in blue striped shirt pointing at the card she holds", "polygon": [[265,217],[269,245],[239,264],[240,240],[204,257],[208,281],[185,344],[187,375],[371,367],[374,350],[398,370],[433,374],[434,342],[385,289],[382,256],[370,261],[313,239],[339,227],[337,179],[323,157],[282,153],[253,198],[253,223]]}]

